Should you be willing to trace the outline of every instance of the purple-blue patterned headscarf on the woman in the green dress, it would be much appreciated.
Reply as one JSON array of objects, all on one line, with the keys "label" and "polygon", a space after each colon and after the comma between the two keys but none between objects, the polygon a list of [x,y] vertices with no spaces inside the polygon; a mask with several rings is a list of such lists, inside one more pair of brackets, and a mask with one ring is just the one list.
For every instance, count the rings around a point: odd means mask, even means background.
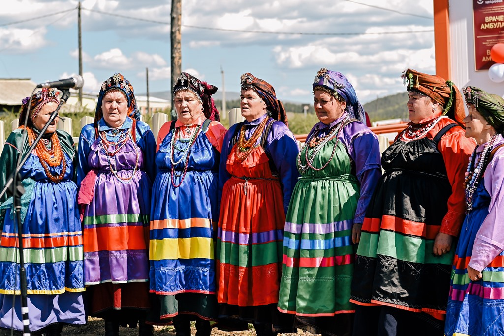
[{"label": "purple-blue patterned headscarf on the woman in the green dress", "polygon": [[336,99],[340,96],[347,103],[345,111],[351,117],[358,119],[364,125],[366,124],[364,109],[357,98],[355,89],[343,74],[322,68],[313,80],[312,89],[313,92],[319,89],[327,90]]}]

